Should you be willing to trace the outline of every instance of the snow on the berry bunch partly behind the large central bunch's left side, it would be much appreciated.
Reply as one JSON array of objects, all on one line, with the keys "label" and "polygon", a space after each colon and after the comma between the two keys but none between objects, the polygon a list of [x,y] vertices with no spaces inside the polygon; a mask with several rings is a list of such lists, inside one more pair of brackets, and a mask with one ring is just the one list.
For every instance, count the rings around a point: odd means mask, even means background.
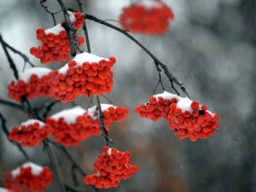
[{"label": "snow on the berry bunch partly behind the large central bunch's left side", "polygon": [[51,69],[45,67],[32,67],[26,69],[24,72],[19,73],[19,79],[25,82],[30,81],[32,74],[38,75],[38,78],[41,79],[44,75],[48,75],[51,72]]}]

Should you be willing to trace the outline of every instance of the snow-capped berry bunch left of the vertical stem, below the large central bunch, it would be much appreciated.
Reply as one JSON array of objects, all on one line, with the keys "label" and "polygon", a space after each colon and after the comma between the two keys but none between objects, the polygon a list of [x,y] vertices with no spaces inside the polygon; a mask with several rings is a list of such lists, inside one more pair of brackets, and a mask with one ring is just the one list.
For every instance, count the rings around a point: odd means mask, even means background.
[{"label": "snow-capped berry bunch left of the vertical stem, below the large central bunch", "polygon": [[46,118],[46,124],[53,127],[55,141],[65,146],[75,146],[88,137],[100,135],[99,121],[80,107],[55,113]]}]

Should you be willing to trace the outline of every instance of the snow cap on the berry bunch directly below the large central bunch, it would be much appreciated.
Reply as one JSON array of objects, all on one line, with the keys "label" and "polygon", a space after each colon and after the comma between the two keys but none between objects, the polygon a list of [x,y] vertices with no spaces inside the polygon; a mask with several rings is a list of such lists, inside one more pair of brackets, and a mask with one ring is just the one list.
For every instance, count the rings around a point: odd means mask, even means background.
[{"label": "snow cap on the berry bunch directly below the large central bunch", "polygon": [[67,121],[67,123],[74,124],[76,123],[77,117],[83,115],[84,113],[86,113],[86,110],[84,108],[75,107],[62,110],[59,113],[55,113],[50,118],[55,120],[63,118]]}]

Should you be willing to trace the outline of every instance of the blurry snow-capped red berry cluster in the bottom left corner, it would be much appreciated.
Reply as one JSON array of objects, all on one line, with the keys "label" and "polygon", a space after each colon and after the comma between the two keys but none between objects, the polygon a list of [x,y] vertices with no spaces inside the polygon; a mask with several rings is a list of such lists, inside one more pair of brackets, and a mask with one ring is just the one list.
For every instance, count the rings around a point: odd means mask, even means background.
[{"label": "blurry snow-capped red berry cluster in the bottom left corner", "polygon": [[38,166],[32,162],[17,167],[12,172],[5,172],[3,184],[9,191],[40,192],[52,183],[52,172],[47,166]]}]

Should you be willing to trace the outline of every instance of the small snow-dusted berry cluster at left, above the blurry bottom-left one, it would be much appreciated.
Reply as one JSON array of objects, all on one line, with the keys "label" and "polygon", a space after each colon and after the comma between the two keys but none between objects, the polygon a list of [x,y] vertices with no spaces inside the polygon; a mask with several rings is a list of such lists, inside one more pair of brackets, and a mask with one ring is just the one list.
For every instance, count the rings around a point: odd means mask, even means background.
[{"label": "small snow-dusted berry cluster at left, above the blurry bottom-left one", "polygon": [[34,147],[49,137],[52,132],[51,126],[36,119],[29,119],[20,127],[13,128],[9,133],[9,139],[21,143],[24,147]]}]

